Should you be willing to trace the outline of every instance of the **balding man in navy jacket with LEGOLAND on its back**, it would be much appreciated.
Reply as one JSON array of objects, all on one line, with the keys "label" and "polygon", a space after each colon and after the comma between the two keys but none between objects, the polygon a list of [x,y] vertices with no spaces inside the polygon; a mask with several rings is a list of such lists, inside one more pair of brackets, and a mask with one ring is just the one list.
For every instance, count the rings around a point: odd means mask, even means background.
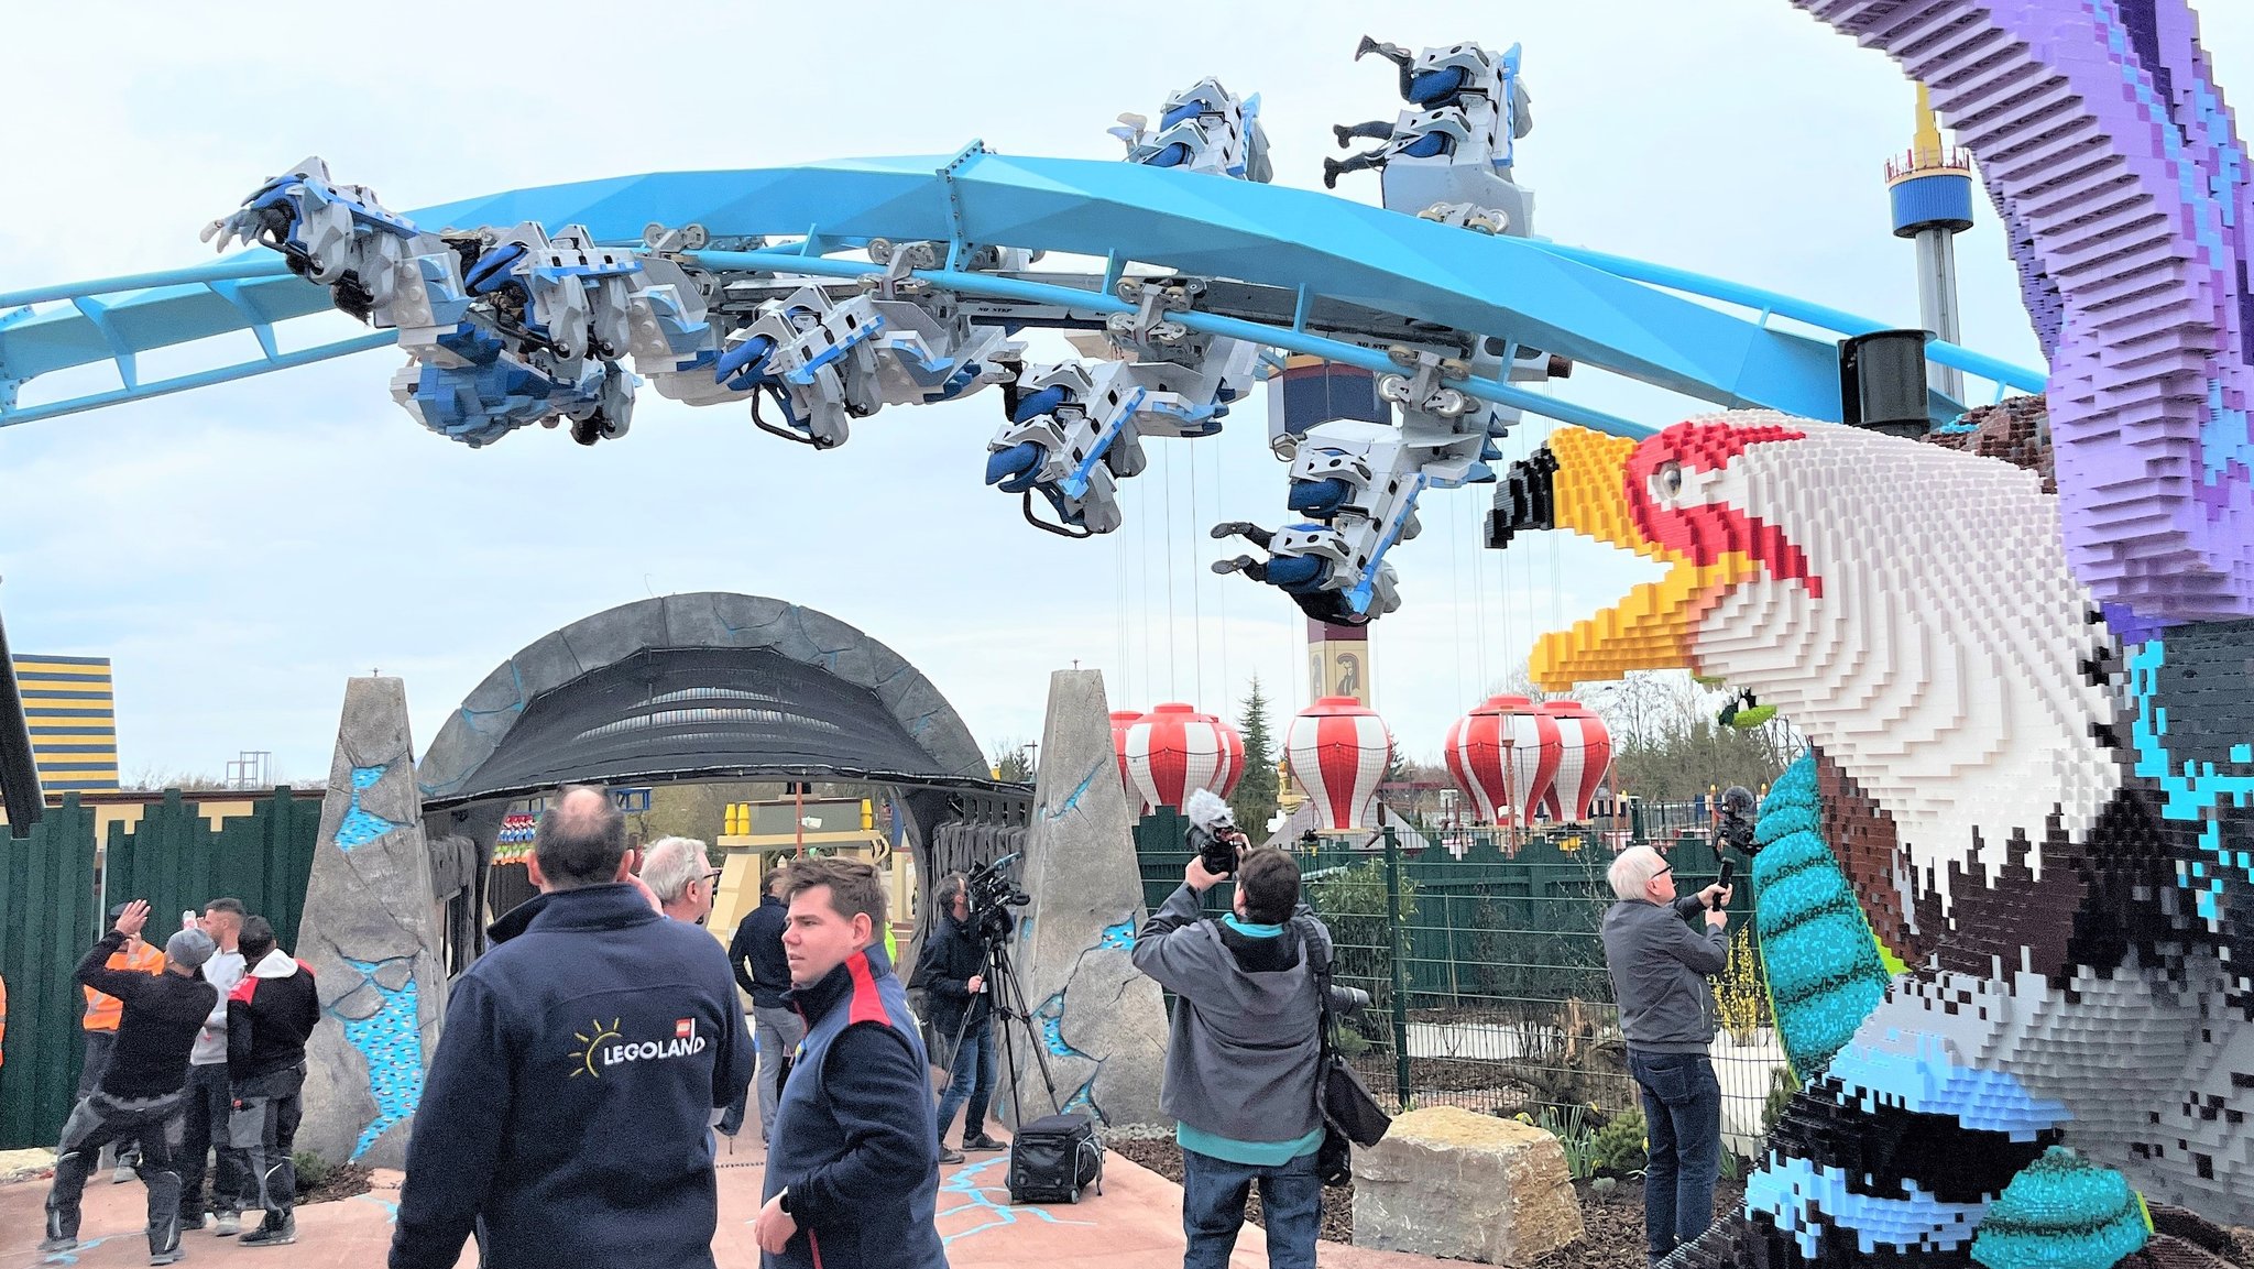
[{"label": "balding man in navy jacket with LEGOLAND on its back", "polygon": [[715,1107],[751,1084],[728,953],[629,884],[627,823],[566,787],[541,893],[453,985],[408,1143],[390,1269],[712,1267]]}]

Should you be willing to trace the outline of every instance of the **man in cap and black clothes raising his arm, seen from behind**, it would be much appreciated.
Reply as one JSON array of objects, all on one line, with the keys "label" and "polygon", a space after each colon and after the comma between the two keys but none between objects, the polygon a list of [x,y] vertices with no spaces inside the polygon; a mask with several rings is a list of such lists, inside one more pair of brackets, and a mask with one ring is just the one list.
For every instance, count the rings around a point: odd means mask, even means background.
[{"label": "man in cap and black clothes raising his arm, seen from behind", "polygon": [[203,980],[214,944],[201,929],[171,935],[162,974],[110,969],[110,956],[147,922],[149,904],[133,899],[117,926],[79,960],[79,983],[117,996],[122,1008],[110,1066],[95,1091],[72,1107],[54,1150],[43,1253],[79,1246],[79,1197],[95,1156],[113,1141],[137,1141],[137,1170],[149,1186],[149,1262],[180,1260],[180,1170],[174,1154],[187,1104],[187,1055],[219,1005],[219,987]]}]

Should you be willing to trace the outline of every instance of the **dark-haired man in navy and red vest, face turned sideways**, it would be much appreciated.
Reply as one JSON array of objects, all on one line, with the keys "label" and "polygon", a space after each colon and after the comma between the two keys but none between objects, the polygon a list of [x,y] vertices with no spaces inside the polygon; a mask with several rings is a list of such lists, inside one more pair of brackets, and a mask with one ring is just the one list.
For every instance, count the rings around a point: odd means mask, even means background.
[{"label": "dark-haired man in navy and red vest, face turned sideways", "polygon": [[944,1269],[933,1228],[940,1134],[924,1039],[877,942],[884,884],[859,859],[784,875],[789,1003],[807,1019],[775,1107],[766,1206],[751,1233],[766,1269]]}]

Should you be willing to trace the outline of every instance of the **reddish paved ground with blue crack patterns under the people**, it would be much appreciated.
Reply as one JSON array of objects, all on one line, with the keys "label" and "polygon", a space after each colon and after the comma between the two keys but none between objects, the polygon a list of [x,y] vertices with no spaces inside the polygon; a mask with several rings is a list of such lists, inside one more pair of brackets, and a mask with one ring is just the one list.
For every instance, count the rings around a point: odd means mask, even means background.
[{"label": "reddish paved ground with blue crack patterns under the people", "polygon": [[[760,1210],[764,1152],[737,1145],[733,1154],[721,1141],[719,1156],[719,1235],[712,1253],[719,1269],[757,1269],[760,1249],[751,1242],[751,1217]],[[1019,1269],[1039,1264],[1129,1269],[1181,1264],[1181,1188],[1172,1181],[1111,1154],[1104,1159],[1104,1192],[1077,1206],[1010,1206],[1003,1183],[1005,1154],[971,1154],[940,1174],[940,1235],[953,1269]],[[282,1251],[243,1249],[232,1237],[187,1235],[183,1264],[273,1264],[273,1269],[372,1269],[383,1264],[397,1174],[376,1174],[379,1188],[340,1204],[298,1208],[298,1242]],[[147,1197],[140,1183],[110,1186],[95,1177],[86,1188],[86,1222],[79,1251],[41,1255],[34,1251],[45,1224],[47,1183],[18,1181],[0,1186],[0,1269],[45,1264],[86,1264],[88,1269],[144,1264],[149,1244],[142,1237]],[[1422,1255],[1361,1251],[1321,1244],[1319,1260],[1332,1269],[1431,1269],[1443,1264]],[[478,1262],[476,1246],[464,1249],[462,1269]],[[1235,1269],[1267,1264],[1260,1231],[1244,1226],[1237,1240]]]}]

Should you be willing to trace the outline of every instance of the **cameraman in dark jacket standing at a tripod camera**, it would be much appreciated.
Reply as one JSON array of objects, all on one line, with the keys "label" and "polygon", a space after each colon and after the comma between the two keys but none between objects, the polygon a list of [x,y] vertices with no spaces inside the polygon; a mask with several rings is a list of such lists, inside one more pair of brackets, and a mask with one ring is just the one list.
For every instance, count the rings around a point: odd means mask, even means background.
[{"label": "cameraman in dark jacket standing at a tripod camera", "polygon": [[[940,1163],[962,1163],[962,1154],[947,1147],[947,1125],[956,1122],[965,1102],[962,1150],[1001,1150],[985,1132],[987,1102],[994,1100],[994,1003],[985,990],[985,938],[971,917],[969,877],[949,872],[940,895],[940,922],[915,962],[911,987],[922,987],[931,1001],[931,1037],[949,1075],[940,1093]],[[1001,938],[1008,938],[1014,929],[1010,913],[996,908],[994,917]]]}]

